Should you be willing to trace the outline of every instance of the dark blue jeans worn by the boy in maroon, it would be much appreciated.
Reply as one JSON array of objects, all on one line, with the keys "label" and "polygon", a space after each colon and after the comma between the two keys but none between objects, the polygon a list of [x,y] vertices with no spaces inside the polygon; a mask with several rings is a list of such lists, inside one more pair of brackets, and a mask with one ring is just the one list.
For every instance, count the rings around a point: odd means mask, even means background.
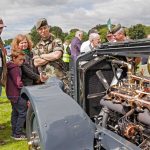
[{"label": "dark blue jeans worn by the boy in maroon", "polygon": [[17,103],[11,102],[12,113],[11,113],[11,126],[12,134],[22,134],[24,123],[26,121],[27,114],[27,101],[21,97],[18,98]]}]

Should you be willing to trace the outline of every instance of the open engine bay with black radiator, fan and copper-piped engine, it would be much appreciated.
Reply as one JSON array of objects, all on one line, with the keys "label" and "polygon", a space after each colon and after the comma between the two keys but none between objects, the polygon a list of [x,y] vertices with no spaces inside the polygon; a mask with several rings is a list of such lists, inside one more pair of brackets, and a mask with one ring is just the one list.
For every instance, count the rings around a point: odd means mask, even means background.
[{"label": "open engine bay with black radiator, fan and copper-piped engine", "polygon": [[[150,150],[149,55],[102,53],[78,63],[78,103],[96,125]],[[96,150],[109,149],[98,143]]]}]

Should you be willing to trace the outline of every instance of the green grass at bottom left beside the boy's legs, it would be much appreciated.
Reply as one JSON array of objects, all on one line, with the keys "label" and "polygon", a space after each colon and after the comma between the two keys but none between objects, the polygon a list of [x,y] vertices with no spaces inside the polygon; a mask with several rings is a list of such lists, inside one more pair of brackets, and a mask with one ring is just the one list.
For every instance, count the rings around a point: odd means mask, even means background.
[{"label": "green grass at bottom left beside the boy's legs", "polygon": [[27,150],[27,141],[15,141],[11,139],[11,104],[5,96],[3,90],[0,97],[0,125],[4,126],[3,130],[0,130],[0,150]]}]

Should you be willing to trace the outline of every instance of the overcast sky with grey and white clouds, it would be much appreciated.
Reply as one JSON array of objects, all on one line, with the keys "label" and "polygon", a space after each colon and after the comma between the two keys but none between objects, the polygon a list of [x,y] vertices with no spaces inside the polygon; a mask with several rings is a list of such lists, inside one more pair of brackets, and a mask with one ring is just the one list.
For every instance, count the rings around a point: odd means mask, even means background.
[{"label": "overcast sky with grey and white clouds", "polygon": [[28,33],[43,17],[65,32],[72,28],[88,31],[109,18],[127,27],[150,25],[150,0],[1,0],[0,17],[7,25],[3,39]]}]

